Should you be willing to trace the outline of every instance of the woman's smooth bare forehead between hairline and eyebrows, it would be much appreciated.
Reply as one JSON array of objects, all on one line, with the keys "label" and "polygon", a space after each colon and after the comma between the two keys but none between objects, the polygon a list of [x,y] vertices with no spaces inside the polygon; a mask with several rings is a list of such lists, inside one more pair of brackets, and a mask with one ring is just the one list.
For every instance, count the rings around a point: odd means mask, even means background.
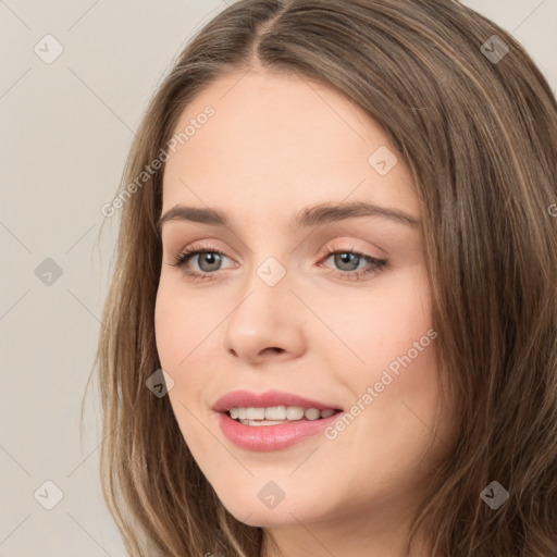
[{"label": "woman's smooth bare forehead between hairline and eyebrows", "polygon": [[395,151],[379,124],[304,76],[251,70],[221,77],[183,111],[174,133],[183,137],[165,164],[163,211],[188,203],[233,206],[246,216],[288,213],[354,195],[419,213],[403,161],[385,175],[370,163],[380,148]]}]

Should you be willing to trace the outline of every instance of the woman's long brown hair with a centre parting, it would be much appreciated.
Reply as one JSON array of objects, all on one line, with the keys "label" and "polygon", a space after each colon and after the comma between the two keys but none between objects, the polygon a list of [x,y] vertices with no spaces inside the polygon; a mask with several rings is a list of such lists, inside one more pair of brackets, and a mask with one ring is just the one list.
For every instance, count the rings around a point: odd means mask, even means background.
[{"label": "woman's long brown hair with a centre parting", "polygon": [[[408,552],[420,532],[435,557],[557,555],[557,103],[521,45],[454,0],[238,1],[193,38],[159,87],[127,160],[125,197],[110,209],[121,227],[95,362],[103,493],[127,549],[261,552],[262,529],[226,511],[169,398],[146,388],[161,367],[153,311],[164,166],[141,174],[195,97],[258,65],[357,103],[392,138],[422,203],[457,434]],[[497,509],[480,497],[493,481],[509,493]]]}]

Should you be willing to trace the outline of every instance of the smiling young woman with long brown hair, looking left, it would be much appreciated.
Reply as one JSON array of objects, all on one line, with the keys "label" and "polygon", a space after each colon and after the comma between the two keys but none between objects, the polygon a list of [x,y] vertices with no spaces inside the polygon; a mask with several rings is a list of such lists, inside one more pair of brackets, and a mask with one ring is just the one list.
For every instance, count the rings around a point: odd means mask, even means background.
[{"label": "smiling young woman with long brown hair, looking left", "polygon": [[557,555],[556,176],[548,84],[456,1],[207,24],[108,208],[131,554]]}]

